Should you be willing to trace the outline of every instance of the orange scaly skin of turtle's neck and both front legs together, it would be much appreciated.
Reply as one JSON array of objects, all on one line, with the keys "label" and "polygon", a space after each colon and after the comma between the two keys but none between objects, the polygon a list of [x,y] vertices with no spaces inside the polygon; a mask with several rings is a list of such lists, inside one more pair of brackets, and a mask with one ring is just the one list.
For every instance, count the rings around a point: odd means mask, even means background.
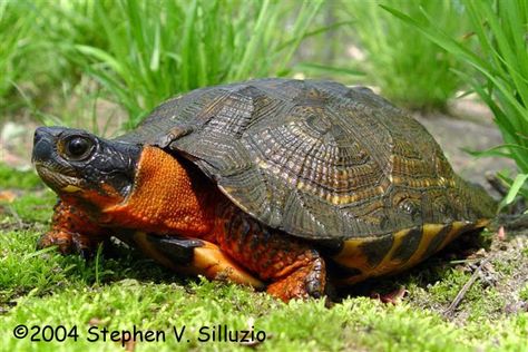
[{"label": "orange scaly skin of turtle's neck and both front legs together", "polygon": [[[208,278],[222,276],[211,267],[228,266],[235,271],[234,276],[247,277],[246,283],[255,285],[258,281],[243,270],[247,268],[270,282],[267,292],[283,301],[323,294],[325,267],[317,252],[302,241],[260,225],[198,170],[159,148],[144,148],[127,198],[119,199],[115,194],[113,198],[92,197],[92,192],[59,194],[62,202],[56,208],[51,231],[40,241],[41,247],[57,244],[62,253],[89,250],[119,228],[202,238],[213,250],[217,246],[212,253],[227,255],[212,256],[211,265],[206,261],[196,270]],[[105,189],[105,194],[111,192]],[[153,248],[149,255],[166,263],[162,252]],[[242,268],[233,266],[228,257]],[[218,261],[222,265],[216,265]]]}]

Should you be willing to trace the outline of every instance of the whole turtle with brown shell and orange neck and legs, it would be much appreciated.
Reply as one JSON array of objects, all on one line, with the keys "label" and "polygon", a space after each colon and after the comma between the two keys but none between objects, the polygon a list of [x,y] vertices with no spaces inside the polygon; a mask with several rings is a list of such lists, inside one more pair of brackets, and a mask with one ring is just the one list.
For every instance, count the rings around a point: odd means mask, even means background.
[{"label": "whole turtle with brown shell and orange neck and legs", "polygon": [[286,302],[408,270],[496,212],[409,114],[327,80],[196,89],[114,139],[39,127],[32,160],[59,197],[39,248],[114,236]]}]

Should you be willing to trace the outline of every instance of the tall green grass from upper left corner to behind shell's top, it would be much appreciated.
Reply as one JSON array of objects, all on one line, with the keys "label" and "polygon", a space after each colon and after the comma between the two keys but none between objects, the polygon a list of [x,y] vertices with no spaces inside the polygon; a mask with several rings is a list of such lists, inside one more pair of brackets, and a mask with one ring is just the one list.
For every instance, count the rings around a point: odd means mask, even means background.
[{"label": "tall green grass from upper left corner to behind shell's top", "polygon": [[314,28],[322,6],[323,0],[3,1],[0,113],[12,106],[19,109],[11,114],[28,111],[47,125],[97,129],[113,116],[97,114],[96,101],[113,100],[130,128],[174,95],[290,75],[302,40],[323,31]]}]

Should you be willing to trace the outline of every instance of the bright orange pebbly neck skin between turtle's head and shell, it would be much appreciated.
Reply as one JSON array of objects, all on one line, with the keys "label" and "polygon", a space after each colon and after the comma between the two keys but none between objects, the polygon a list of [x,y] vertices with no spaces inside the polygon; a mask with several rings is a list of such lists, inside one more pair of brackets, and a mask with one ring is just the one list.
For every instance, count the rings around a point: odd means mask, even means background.
[{"label": "bright orange pebbly neck skin between turtle's head and shell", "polygon": [[101,207],[104,226],[204,238],[212,235],[222,195],[202,173],[174,156],[146,146],[130,195]]}]

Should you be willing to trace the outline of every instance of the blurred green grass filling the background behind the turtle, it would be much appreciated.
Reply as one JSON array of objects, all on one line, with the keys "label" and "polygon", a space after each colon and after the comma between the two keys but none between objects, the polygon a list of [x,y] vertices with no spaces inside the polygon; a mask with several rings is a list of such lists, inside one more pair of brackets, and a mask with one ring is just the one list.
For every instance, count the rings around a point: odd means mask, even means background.
[{"label": "blurred green grass filling the background behind the turtle", "polygon": [[505,139],[488,154],[516,160],[502,178],[526,196],[527,18],[525,0],[0,0],[0,124],[113,135],[257,77],[368,85],[415,110],[473,91]]}]

